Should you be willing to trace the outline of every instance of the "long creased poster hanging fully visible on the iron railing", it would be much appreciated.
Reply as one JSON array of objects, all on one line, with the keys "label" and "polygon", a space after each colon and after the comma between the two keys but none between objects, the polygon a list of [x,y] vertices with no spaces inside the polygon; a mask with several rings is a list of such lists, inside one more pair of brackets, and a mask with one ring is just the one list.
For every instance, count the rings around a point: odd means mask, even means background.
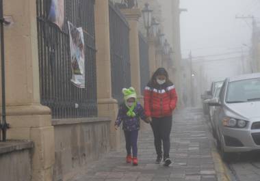
[{"label": "long creased poster hanging fully visible on the iron railing", "polygon": [[83,29],[77,28],[68,21],[70,35],[70,60],[73,72],[71,81],[79,88],[85,88],[85,45]]}]

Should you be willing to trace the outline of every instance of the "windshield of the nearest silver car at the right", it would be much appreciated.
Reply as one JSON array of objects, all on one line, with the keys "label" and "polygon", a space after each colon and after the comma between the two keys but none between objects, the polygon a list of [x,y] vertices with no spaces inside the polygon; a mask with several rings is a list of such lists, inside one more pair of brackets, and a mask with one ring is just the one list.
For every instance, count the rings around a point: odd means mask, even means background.
[{"label": "windshield of the nearest silver car at the right", "polygon": [[260,101],[260,78],[229,83],[226,92],[227,103]]}]

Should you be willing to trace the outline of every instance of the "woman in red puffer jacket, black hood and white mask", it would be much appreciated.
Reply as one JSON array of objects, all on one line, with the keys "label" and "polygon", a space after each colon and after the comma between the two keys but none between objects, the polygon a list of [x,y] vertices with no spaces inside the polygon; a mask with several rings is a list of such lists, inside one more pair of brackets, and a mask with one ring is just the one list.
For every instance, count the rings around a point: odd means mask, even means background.
[{"label": "woman in red puffer jacket, black hood and white mask", "polygon": [[[144,111],[151,121],[155,138],[156,163],[161,163],[164,156],[164,165],[170,161],[170,131],[172,129],[172,111],[177,105],[177,94],[174,84],[169,80],[168,72],[158,68],[144,90]],[[161,141],[164,146],[164,155],[161,152]]]}]

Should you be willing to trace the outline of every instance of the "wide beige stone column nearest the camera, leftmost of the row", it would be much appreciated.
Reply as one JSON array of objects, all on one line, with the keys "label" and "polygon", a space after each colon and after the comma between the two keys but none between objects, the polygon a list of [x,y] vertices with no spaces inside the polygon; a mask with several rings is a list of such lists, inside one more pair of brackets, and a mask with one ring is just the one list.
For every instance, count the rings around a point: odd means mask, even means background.
[{"label": "wide beige stone column nearest the camera, leftmost of the row", "polygon": [[52,180],[54,130],[51,111],[40,105],[36,2],[3,1],[5,16],[14,24],[5,27],[5,81],[8,139],[34,141],[32,180]]}]

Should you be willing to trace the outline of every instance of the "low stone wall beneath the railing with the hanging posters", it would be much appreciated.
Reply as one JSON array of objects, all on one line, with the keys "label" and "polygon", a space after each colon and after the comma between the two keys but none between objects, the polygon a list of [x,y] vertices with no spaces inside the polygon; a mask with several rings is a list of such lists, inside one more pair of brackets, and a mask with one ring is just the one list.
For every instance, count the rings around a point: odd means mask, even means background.
[{"label": "low stone wall beneath the railing with the hanging posters", "polygon": [[69,180],[107,153],[110,121],[105,118],[53,120],[55,166],[53,181]]}]

